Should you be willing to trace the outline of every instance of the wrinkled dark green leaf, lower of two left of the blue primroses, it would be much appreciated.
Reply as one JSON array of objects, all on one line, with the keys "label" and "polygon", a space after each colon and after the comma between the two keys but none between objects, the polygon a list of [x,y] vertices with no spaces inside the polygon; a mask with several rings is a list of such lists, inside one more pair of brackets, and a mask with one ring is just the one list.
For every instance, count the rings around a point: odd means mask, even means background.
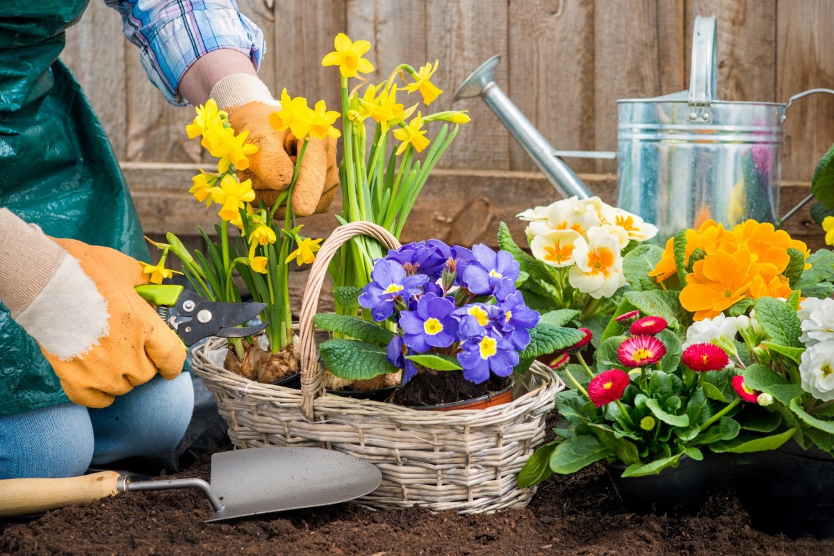
[{"label": "wrinkled dark green leaf, lower of two left of the blue primroses", "polygon": [[331,373],[347,380],[365,380],[396,373],[384,348],[359,340],[334,339],[319,346],[319,353]]}]

